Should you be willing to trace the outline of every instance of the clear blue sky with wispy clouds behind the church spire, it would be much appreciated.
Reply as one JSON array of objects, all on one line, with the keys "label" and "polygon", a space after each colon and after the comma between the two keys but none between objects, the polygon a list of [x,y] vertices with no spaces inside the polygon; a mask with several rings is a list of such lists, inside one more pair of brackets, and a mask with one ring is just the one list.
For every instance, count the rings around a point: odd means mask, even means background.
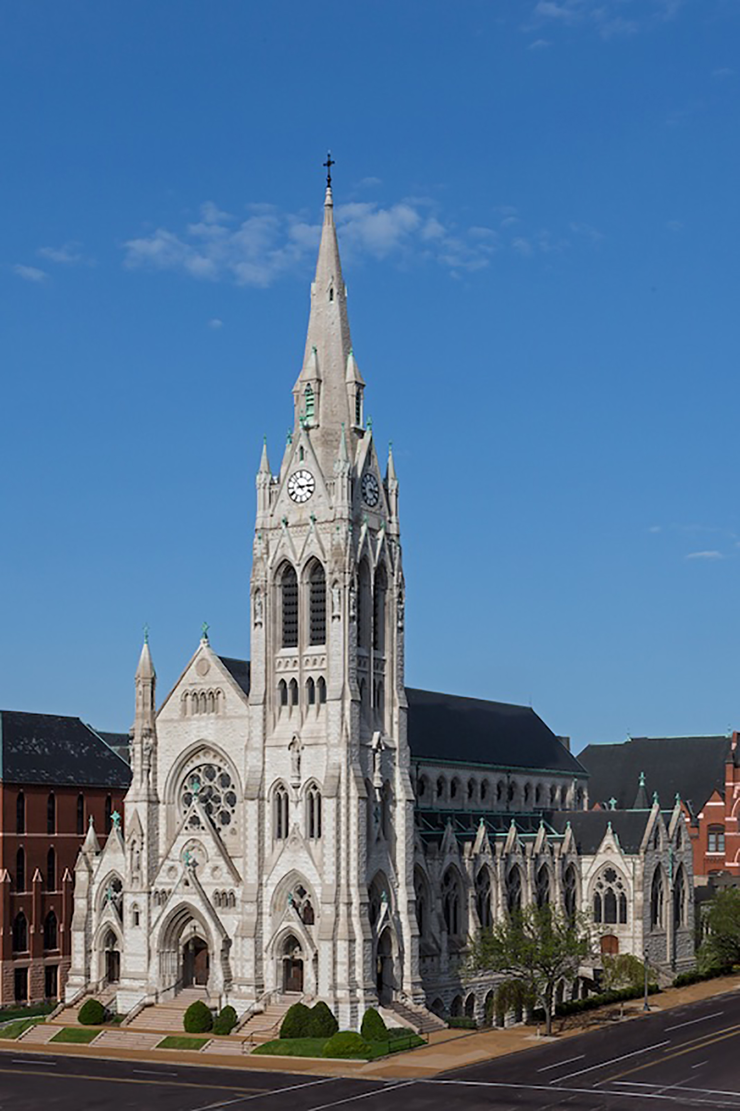
[{"label": "clear blue sky with wispy clouds behind the church spire", "polygon": [[738,0],[9,2],[0,704],[249,651],[331,147],[407,681],[740,725]]}]

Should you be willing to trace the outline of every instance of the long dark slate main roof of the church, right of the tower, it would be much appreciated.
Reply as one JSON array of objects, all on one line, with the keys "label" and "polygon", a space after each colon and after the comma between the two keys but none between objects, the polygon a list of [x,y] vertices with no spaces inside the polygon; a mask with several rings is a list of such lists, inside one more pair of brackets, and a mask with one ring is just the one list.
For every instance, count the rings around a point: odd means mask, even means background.
[{"label": "long dark slate main roof of the church, right of the tower", "polygon": [[414,759],[494,764],[586,775],[530,707],[407,688]]}]

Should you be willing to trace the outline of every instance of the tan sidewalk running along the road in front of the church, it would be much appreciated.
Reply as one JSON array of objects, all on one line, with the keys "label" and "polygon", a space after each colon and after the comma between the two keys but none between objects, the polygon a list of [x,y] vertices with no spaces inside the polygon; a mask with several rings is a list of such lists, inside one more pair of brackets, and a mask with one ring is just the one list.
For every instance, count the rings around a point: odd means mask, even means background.
[{"label": "tan sidewalk running along the road in front of the church", "polygon": [[[702,999],[711,999],[713,995],[721,995],[728,991],[740,989],[740,974],[721,977],[717,980],[707,980],[703,983],[690,984],[687,988],[669,988],[659,995],[651,997],[651,1011],[666,1011],[673,1007],[684,1007],[687,1003],[699,1002]],[[618,1013],[619,1004],[601,1008],[598,1011],[587,1011],[584,1014],[571,1015],[566,1019],[556,1019],[553,1030],[558,1038],[572,1038],[576,1034],[584,1033],[589,1030],[599,1029],[607,1023],[611,1023],[611,1018]],[[642,1001],[636,1000],[624,1004],[624,1019],[642,1018]],[[38,1029],[38,1028],[37,1028]],[[41,1027],[47,1030],[48,1027]],[[51,1028],[53,1030],[53,1028]],[[59,1028],[57,1028],[59,1029]],[[56,1032],[56,1030],[53,1031]],[[111,1031],[112,1032],[112,1031]],[[40,1037],[40,1031],[39,1035]],[[317,1077],[367,1077],[371,1079],[400,1079],[433,1077],[440,1072],[451,1069],[459,1069],[468,1064],[479,1064],[490,1061],[507,1053],[518,1053],[527,1049],[532,1049],[538,1044],[536,1027],[512,1027],[509,1030],[439,1030],[429,1035],[429,1045],[423,1049],[412,1050],[408,1053],[398,1053],[393,1057],[383,1058],[380,1061],[326,1061],[313,1058],[296,1057],[253,1057],[251,1054],[237,1055],[237,1039],[221,1039],[223,1051],[212,1042],[200,1053],[191,1053],[183,1050],[157,1050],[137,1047],[130,1050],[124,1048],[123,1038],[126,1029],[116,1031],[119,1035],[116,1039],[100,1039],[97,1045],[72,1045],[72,1044],[42,1044],[37,1040],[9,1041],[1,1049],[12,1049],[16,1052],[32,1053],[58,1053],[60,1055],[99,1058],[101,1060],[130,1060],[140,1063],[141,1061],[157,1062],[160,1064],[198,1064],[211,1068],[229,1069],[252,1069],[260,1072],[294,1072],[303,1075]],[[158,1034],[163,1038],[164,1033]],[[104,1042],[108,1041],[108,1045]],[[116,1042],[114,1052],[112,1042]]]}]

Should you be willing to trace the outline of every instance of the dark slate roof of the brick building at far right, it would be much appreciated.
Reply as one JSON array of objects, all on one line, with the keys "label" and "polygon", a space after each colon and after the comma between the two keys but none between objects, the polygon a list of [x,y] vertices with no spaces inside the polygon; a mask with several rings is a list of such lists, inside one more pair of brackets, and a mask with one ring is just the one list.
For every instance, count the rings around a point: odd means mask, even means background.
[{"label": "dark slate roof of the brick building at far right", "polygon": [[714,791],[724,792],[729,737],[633,737],[621,744],[589,744],[578,759],[590,774],[589,804],[608,805],[613,797],[624,810],[633,807],[644,772],[648,799],[653,791],[662,807],[677,792],[699,813]]}]

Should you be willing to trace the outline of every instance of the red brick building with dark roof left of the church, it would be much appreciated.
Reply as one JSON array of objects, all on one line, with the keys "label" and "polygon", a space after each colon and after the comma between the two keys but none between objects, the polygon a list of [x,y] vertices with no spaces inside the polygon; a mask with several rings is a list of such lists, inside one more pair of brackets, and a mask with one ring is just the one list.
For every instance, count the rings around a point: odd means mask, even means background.
[{"label": "red brick building with dark roof left of the church", "polygon": [[77,854],[90,820],[104,838],[123,812],[129,781],[79,718],[0,711],[0,1007],[61,997]]}]

